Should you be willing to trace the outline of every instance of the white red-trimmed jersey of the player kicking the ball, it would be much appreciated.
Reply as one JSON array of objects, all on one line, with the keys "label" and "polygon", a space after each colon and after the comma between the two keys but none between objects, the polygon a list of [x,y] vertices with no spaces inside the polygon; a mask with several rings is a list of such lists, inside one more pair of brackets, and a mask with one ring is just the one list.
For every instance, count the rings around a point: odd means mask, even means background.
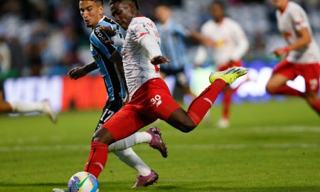
[{"label": "white red-trimmed jersey of the player kicking the ball", "polygon": [[161,41],[154,22],[144,16],[132,18],[122,47],[124,73],[130,98],[148,80],[161,78],[159,65],[151,64],[149,51],[141,45],[146,34],[151,35],[160,48]]}]

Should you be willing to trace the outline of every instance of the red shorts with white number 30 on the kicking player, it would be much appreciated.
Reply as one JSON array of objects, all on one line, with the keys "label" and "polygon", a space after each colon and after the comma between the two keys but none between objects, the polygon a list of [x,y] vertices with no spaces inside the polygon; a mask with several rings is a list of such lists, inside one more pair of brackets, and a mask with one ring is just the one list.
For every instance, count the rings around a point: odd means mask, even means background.
[{"label": "red shorts with white number 30 on the kicking player", "polygon": [[132,95],[132,100],[102,125],[115,141],[134,134],[142,127],[156,121],[167,120],[172,112],[181,108],[171,97],[161,78],[149,80]]}]

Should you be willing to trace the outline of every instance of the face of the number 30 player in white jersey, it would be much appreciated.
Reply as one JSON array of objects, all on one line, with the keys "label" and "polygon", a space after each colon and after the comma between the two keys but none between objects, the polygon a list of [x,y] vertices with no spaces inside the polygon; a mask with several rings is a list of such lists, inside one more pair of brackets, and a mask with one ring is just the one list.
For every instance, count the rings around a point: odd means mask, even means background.
[{"label": "face of the number 30 player in white jersey", "polygon": [[117,21],[124,30],[128,29],[132,18],[135,17],[135,7],[127,3],[127,1],[122,1],[121,3],[115,2],[110,6],[110,11],[114,20]]}]

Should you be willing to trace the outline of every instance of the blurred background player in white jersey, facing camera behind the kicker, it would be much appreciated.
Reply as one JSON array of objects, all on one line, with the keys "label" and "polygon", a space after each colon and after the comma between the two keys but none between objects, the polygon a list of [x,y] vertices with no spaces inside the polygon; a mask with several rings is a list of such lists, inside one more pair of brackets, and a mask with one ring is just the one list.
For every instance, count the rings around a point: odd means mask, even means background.
[{"label": "blurred background player in white jersey, facing camera behind the kicker", "polygon": [[[241,58],[249,48],[249,43],[239,23],[225,16],[225,4],[223,1],[213,1],[210,6],[212,19],[206,21],[201,27],[201,34],[215,42],[211,48],[213,61],[218,71],[226,70],[233,66],[242,66]],[[200,65],[208,56],[208,50],[203,46],[198,48],[195,63]],[[223,115],[217,126],[226,128],[229,126],[230,105],[235,89],[226,87],[223,90]]]}]

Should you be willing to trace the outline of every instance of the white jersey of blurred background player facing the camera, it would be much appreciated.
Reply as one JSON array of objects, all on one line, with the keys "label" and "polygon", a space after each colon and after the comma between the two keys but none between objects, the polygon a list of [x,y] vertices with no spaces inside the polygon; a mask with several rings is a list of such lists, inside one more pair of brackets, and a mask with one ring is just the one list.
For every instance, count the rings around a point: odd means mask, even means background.
[{"label": "white jersey of blurred background player facing the camera", "polygon": [[[213,60],[218,67],[227,65],[231,60],[240,60],[249,48],[249,42],[239,23],[228,17],[223,18],[221,23],[210,19],[201,27],[201,34],[215,41]],[[203,63],[207,55],[207,49],[199,47],[195,63]]]}]

